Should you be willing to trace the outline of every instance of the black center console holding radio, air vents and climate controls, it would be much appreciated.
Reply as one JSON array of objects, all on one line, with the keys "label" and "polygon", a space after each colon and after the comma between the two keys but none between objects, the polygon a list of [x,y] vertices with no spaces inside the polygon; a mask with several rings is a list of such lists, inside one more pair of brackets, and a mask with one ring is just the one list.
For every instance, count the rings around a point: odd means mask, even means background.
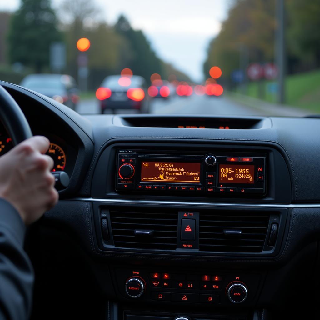
[{"label": "black center console holding radio, air vents and climate controls", "polygon": [[256,266],[279,259],[289,234],[281,150],[112,143],[92,198],[93,245],[108,259],[121,320],[252,319],[267,278]]}]

